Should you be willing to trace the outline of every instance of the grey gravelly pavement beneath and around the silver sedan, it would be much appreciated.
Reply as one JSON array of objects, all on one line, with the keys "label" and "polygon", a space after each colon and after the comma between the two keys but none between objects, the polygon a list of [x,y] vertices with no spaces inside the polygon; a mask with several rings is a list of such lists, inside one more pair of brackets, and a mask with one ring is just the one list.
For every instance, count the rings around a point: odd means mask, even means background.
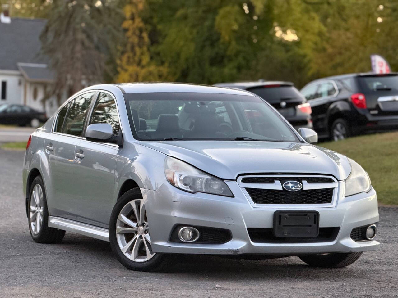
[{"label": "grey gravelly pavement beneath and around the silver sedan", "polygon": [[184,256],[169,272],[134,272],[107,242],[71,233],[61,244],[31,240],[22,159],[0,149],[0,297],[398,297],[397,207],[380,208],[382,249],[342,269],[311,268],[297,257]]}]

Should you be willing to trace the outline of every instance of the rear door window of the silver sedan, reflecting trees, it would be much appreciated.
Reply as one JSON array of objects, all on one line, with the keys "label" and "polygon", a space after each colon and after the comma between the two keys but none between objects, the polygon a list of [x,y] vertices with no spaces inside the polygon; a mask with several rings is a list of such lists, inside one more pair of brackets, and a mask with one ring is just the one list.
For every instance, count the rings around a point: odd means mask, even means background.
[{"label": "rear door window of the silver sedan, reflecting trees", "polygon": [[94,93],[95,92],[84,93],[72,101],[64,127],[62,128],[63,134],[76,135],[78,137],[82,136],[84,121],[90,109]]}]

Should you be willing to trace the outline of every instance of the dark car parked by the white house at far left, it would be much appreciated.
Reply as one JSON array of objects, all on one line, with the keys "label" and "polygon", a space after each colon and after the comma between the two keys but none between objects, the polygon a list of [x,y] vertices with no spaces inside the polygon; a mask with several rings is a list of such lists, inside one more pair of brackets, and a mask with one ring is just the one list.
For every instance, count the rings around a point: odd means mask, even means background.
[{"label": "dark car parked by the white house at far left", "polygon": [[37,128],[40,123],[47,121],[45,112],[39,112],[29,106],[21,104],[0,105],[0,124],[30,125]]}]

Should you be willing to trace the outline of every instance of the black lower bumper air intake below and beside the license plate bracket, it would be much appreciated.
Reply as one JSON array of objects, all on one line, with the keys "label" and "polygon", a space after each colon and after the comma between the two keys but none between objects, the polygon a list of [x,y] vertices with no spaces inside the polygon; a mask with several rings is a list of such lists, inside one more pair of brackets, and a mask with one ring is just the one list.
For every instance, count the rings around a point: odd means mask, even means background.
[{"label": "black lower bumper air intake below and beside the license plate bracket", "polygon": [[248,228],[250,240],[255,243],[311,243],[311,242],[330,242],[336,240],[339,227],[319,228],[316,237],[275,237],[272,228]]}]

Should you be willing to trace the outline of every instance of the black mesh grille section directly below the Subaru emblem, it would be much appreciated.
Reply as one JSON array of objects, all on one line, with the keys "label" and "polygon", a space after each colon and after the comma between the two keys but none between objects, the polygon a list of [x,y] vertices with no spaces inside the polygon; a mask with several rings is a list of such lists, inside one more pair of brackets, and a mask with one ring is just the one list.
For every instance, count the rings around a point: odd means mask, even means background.
[{"label": "black mesh grille section directly below the Subaru emblem", "polygon": [[245,189],[256,204],[329,204],[333,198],[333,188],[297,192],[262,188]]}]

